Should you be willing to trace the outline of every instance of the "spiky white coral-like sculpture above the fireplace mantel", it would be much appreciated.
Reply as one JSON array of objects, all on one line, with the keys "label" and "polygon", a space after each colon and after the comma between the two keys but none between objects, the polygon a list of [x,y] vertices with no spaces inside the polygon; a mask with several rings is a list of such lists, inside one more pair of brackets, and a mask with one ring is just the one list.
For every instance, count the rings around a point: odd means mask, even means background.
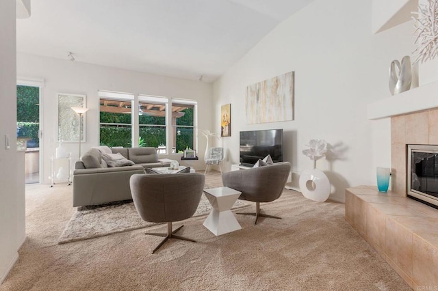
[{"label": "spiky white coral-like sculpture above the fireplace mantel", "polygon": [[415,44],[413,54],[417,55],[414,64],[434,59],[438,55],[438,0],[428,0],[427,5],[418,5],[418,18],[415,20]]}]

